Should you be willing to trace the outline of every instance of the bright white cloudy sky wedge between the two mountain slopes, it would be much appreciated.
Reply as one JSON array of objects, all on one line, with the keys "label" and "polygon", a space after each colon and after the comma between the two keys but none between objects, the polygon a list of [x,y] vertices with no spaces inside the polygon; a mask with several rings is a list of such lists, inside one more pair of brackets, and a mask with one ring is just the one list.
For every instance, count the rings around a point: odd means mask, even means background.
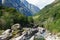
[{"label": "bright white cloudy sky wedge between the two mountain slopes", "polygon": [[42,9],[46,5],[51,4],[55,0],[26,0],[26,1]]}]

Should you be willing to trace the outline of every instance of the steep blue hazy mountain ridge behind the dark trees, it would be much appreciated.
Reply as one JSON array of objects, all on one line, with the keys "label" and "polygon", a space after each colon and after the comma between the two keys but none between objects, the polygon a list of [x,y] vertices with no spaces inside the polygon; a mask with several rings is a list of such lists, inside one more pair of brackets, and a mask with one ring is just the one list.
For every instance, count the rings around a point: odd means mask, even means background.
[{"label": "steep blue hazy mountain ridge behind the dark trees", "polygon": [[38,7],[29,4],[26,0],[5,0],[3,5],[14,7],[26,16],[32,16],[40,10]]}]

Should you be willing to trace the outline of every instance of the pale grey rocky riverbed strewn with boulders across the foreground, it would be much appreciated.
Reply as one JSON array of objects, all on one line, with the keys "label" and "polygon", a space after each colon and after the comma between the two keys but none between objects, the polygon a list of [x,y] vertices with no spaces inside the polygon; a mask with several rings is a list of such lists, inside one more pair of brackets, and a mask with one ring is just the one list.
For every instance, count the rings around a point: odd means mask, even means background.
[{"label": "pale grey rocky riverbed strewn with boulders across the foreground", "polygon": [[60,40],[60,37],[42,27],[22,28],[23,30],[20,28],[20,24],[14,24],[11,29],[5,30],[0,35],[0,40],[34,40],[41,37],[45,40]]}]

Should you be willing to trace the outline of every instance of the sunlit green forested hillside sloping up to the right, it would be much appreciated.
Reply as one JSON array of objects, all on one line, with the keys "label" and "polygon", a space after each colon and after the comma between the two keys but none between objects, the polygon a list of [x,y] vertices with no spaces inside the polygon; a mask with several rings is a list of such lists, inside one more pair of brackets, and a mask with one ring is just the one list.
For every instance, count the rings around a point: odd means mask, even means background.
[{"label": "sunlit green forested hillside sloping up to the right", "polygon": [[34,17],[37,17],[34,20],[37,23],[39,22],[40,26],[45,27],[52,33],[60,32],[60,0],[55,0],[52,4],[47,5]]}]

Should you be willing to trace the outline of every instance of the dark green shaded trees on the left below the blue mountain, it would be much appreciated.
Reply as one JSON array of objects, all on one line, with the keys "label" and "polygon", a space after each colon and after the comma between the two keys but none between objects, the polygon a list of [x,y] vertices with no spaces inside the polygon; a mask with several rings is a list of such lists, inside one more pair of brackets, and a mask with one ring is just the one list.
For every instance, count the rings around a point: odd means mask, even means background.
[{"label": "dark green shaded trees on the left below the blue mountain", "polygon": [[25,26],[31,19],[28,21],[28,17],[19,13],[14,8],[0,6],[0,9],[0,29],[9,29],[15,23]]}]

